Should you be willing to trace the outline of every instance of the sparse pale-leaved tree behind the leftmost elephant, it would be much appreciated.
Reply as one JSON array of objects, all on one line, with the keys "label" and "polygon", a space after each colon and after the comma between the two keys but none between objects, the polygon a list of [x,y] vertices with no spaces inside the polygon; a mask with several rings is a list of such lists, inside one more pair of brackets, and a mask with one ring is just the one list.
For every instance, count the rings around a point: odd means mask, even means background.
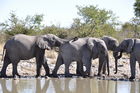
[{"label": "sparse pale-leaved tree behind the leftmost elephant", "polygon": [[25,19],[19,19],[15,12],[11,12],[10,18],[0,23],[0,26],[1,30],[10,36],[15,34],[33,34],[41,30],[42,21],[43,15],[27,16]]}]

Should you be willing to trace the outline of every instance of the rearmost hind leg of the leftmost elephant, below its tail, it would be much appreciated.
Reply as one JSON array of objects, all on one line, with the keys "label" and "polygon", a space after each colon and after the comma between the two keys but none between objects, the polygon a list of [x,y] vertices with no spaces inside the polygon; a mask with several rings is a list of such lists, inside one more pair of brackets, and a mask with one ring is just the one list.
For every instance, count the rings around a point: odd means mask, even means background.
[{"label": "rearmost hind leg of the leftmost elephant, below its tail", "polygon": [[5,55],[4,57],[4,62],[3,62],[3,67],[2,67],[2,70],[1,70],[1,76],[2,77],[6,77],[6,69],[7,69],[7,66],[11,63],[10,59],[7,57],[7,54]]}]

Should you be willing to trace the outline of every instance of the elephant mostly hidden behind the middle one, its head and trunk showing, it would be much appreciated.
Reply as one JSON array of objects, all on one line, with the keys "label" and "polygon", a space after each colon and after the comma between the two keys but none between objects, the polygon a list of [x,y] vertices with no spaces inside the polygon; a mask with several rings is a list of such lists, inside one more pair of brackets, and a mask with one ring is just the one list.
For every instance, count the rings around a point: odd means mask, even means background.
[{"label": "elephant mostly hidden behind the middle one, its head and trunk showing", "polygon": [[118,57],[116,56],[117,54],[116,54],[115,51],[116,51],[116,48],[119,45],[119,42],[118,42],[117,39],[115,39],[113,37],[110,37],[110,36],[104,36],[101,39],[105,42],[105,44],[107,46],[107,49],[110,50],[110,51],[113,51],[113,57],[115,59],[115,69],[116,69],[115,74],[116,74],[117,73],[117,60],[118,60]]}]

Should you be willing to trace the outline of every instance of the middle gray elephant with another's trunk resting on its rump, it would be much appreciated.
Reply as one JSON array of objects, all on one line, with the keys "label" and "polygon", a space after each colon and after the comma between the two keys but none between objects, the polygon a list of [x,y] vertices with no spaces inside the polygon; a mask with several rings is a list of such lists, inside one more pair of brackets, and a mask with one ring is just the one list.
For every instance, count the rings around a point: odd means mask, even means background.
[{"label": "middle gray elephant with another's trunk resting on its rump", "polygon": [[[78,38],[73,42],[62,44],[59,49],[56,65],[52,72],[53,76],[57,76],[60,65],[65,64],[65,76],[69,77],[69,66],[72,61],[77,62],[78,71],[81,75],[85,76],[87,74],[89,76],[91,60],[96,58],[99,58],[98,75],[100,75],[104,63],[107,63],[109,75],[108,50],[103,40],[92,37]],[[83,64],[86,66],[85,72],[83,72]],[[103,68],[103,73],[105,73],[105,68]]]}]

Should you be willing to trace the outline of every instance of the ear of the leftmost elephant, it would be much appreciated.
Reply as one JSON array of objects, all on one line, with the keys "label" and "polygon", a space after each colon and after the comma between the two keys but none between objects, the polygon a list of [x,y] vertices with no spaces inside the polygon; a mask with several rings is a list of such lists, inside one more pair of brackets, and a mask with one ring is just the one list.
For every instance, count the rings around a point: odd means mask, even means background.
[{"label": "ear of the leftmost elephant", "polygon": [[47,38],[45,38],[45,36],[38,37],[36,40],[36,44],[41,49],[47,49],[47,50],[51,49],[51,46],[50,46]]}]

